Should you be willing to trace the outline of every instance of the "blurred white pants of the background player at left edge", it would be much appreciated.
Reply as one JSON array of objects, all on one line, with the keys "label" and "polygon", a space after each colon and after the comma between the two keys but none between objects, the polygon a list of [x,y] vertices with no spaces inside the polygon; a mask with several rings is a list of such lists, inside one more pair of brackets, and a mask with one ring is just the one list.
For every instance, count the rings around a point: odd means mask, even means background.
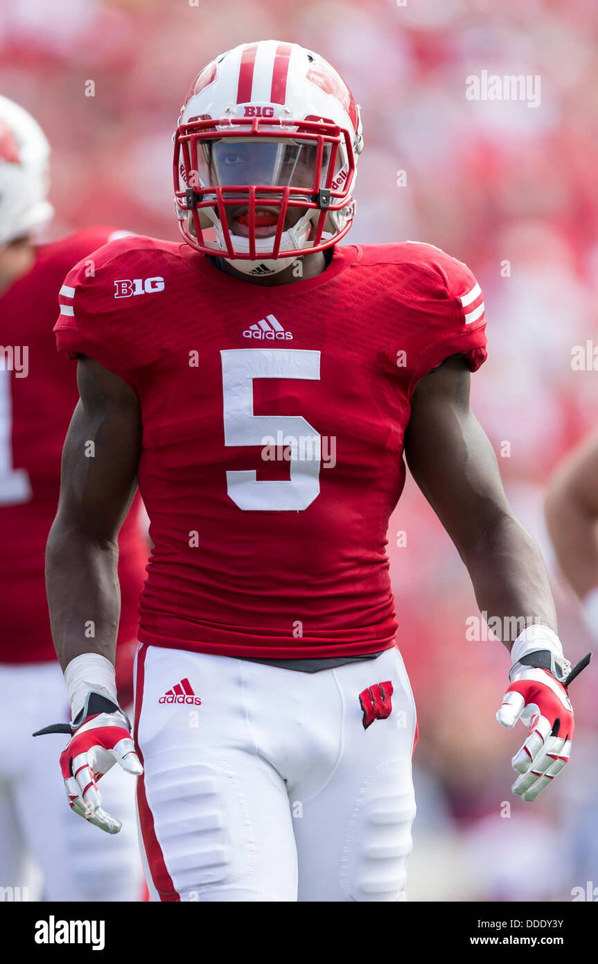
[{"label": "blurred white pants of the background player at left edge", "polygon": [[135,778],[116,764],[101,779],[109,812],[122,820],[110,836],[68,806],[59,763],[68,736],[31,736],[69,718],[58,662],[0,665],[0,899],[23,899],[33,861],[41,892],[29,899],[140,900]]}]

